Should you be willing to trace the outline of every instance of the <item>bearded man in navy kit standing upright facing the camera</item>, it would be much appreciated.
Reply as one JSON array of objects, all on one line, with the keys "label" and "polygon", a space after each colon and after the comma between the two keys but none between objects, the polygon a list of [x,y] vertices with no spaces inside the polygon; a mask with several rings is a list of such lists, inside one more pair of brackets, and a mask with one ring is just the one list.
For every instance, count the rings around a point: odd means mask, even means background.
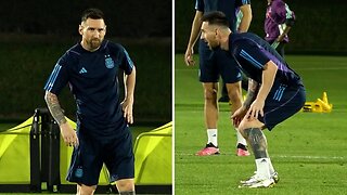
[{"label": "bearded man in navy kit standing upright facing the camera", "polygon": [[[47,105],[60,126],[66,145],[74,146],[67,180],[77,194],[93,194],[103,164],[119,194],[134,194],[132,105],[136,68],[127,51],[104,40],[104,14],[82,13],[81,41],[57,61],[44,87]],[[119,100],[118,72],[125,73],[125,100]],[[66,121],[57,95],[69,84],[77,104],[77,131]]]}]

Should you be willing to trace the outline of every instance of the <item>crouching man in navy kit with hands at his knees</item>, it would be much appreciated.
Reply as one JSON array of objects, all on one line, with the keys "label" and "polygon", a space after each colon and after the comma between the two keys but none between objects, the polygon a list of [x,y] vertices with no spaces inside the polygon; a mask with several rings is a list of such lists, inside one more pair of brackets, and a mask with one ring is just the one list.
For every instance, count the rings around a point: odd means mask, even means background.
[{"label": "crouching man in navy kit with hands at his knees", "polygon": [[279,178],[262,129],[271,131],[303,107],[306,96],[301,78],[267,41],[250,32],[232,34],[223,13],[211,12],[202,22],[202,38],[209,48],[228,51],[249,78],[247,98],[232,119],[253,150],[257,170],[240,186],[271,187]]}]

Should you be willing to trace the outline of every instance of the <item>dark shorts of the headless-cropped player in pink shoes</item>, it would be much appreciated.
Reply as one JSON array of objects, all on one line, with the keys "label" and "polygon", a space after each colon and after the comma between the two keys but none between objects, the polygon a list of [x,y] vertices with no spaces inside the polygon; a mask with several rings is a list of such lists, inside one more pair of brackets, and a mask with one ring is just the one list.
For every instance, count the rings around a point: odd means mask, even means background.
[{"label": "dark shorts of the headless-cropped player in pink shoes", "polygon": [[219,76],[224,83],[242,80],[235,60],[227,51],[221,49],[211,51],[205,41],[200,40],[198,54],[201,82],[218,82]]}]

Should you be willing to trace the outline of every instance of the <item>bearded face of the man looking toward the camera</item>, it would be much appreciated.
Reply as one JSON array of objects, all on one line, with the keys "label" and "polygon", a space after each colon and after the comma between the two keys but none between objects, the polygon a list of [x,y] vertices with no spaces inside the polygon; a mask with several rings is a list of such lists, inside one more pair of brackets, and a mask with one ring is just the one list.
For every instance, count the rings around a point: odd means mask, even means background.
[{"label": "bearded face of the man looking toward the camera", "polygon": [[88,50],[97,50],[106,34],[106,25],[104,20],[88,18],[79,25],[79,34],[82,36],[82,43]]}]

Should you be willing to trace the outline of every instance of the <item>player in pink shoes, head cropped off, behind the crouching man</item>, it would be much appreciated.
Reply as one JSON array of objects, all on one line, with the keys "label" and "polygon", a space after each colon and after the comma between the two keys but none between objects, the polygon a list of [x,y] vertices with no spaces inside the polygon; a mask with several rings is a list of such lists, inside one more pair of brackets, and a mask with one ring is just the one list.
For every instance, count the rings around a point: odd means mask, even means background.
[{"label": "player in pink shoes, head cropped off, behind the crouching man", "polygon": [[[204,13],[211,11],[222,11],[227,17],[232,29],[235,29],[236,15],[235,10],[240,8],[243,13],[242,21],[240,23],[240,31],[247,31],[252,21],[252,10],[249,0],[196,0],[195,4],[195,17],[192,24],[191,36],[187,47],[184,61],[188,66],[194,65],[193,48],[198,39],[200,30],[202,26],[201,18]],[[235,62],[232,57],[222,50],[216,50],[211,52],[208,46],[204,41],[200,41],[198,44],[200,54],[200,81],[203,82],[204,88],[204,115],[205,126],[207,128],[207,144],[198,151],[196,155],[215,155],[219,154],[217,142],[217,121],[218,121],[218,79],[219,75],[227,83],[228,95],[232,103],[231,110],[235,112],[242,105],[241,94],[241,72],[233,65]],[[232,73],[232,74],[230,74]],[[237,132],[237,151],[239,156],[248,156],[249,153],[246,148],[246,141]]]}]

